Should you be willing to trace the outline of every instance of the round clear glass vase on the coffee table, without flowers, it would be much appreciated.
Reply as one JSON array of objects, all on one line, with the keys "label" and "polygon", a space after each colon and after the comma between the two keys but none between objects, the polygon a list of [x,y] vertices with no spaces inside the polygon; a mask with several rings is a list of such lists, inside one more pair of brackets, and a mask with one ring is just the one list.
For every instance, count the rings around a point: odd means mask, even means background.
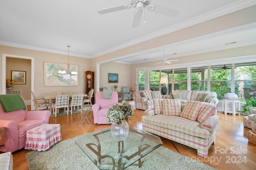
[{"label": "round clear glass vase on the coffee table, without flowers", "polygon": [[117,123],[112,123],[110,131],[116,141],[122,142],[129,133],[129,125],[127,122],[122,122],[119,125]]}]

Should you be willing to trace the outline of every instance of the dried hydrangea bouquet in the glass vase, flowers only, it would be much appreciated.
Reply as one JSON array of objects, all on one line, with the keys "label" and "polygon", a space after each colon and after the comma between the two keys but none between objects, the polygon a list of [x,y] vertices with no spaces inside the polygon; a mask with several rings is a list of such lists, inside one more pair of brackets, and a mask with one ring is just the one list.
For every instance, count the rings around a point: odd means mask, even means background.
[{"label": "dried hydrangea bouquet in the glass vase, flowers only", "polygon": [[107,123],[112,121],[119,125],[122,122],[130,121],[130,116],[133,113],[132,106],[123,100],[121,104],[114,104],[108,108]]}]

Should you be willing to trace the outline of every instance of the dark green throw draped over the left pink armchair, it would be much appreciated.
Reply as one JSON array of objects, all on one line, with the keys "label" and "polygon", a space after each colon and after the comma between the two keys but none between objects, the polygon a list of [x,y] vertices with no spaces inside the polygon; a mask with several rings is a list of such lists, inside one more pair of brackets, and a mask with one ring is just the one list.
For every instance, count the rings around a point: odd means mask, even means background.
[{"label": "dark green throw draped over the left pink armchair", "polygon": [[24,109],[27,110],[26,104],[18,94],[0,95],[0,103],[4,112]]}]

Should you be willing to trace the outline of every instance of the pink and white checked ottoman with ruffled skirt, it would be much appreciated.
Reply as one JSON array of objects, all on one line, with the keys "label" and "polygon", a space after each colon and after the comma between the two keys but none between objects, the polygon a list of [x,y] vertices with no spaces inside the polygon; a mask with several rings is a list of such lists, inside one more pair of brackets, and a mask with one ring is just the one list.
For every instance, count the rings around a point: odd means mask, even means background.
[{"label": "pink and white checked ottoman with ruffled skirt", "polygon": [[43,124],[27,131],[25,149],[47,150],[60,140],[60,124]]}]

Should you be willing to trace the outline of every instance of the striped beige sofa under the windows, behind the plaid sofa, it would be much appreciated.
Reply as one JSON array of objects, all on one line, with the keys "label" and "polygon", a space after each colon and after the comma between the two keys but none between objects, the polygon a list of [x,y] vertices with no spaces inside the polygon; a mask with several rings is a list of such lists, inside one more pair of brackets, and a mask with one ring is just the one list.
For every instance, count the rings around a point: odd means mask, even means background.
[{"label": "striped beige sofa under the windows, behind the plaid sofa", "polygon": [[[175,98],[175,94],[179,93],[180,94],[180,102],[182,104],[186,104],[187,101],[201,101],[200,102],[206,102],[213,104],[214,106],[217,106],[219,100],[217,98],[217,93],[216,92],[210,92],[210,91],[191,91],[191,90],[174,90],[172,94],[168,96],[170,99],[177,99]],[[200,98],[200,95],[202,94],[208,94],[206,99]],[[179,95],[176,95],[176,97]],[[204,101],[203,101],[204,100]]]}]

